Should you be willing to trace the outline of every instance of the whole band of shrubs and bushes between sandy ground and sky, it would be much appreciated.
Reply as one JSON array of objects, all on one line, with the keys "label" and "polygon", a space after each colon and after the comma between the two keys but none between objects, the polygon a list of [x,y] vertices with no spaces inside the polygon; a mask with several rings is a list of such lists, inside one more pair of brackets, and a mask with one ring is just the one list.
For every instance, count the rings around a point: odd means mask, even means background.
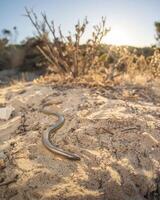
[{"label": "whole band of shrubs and bushes between sandy ground and sky", "polygon": [[[123,75],[132,79],[135,74],[147,75],[149,79],[160,76],[160,49],[158,46],[136,48],[103,44],[103,38],[111,29],[106,27],[106,18],[102,17],[98,25],[93,26],[92,37],[82,42],[87,31],[88,19],[78,21],[74,32],[62,33],[61,27],[49,22],[47,15],[41,16],[25,9],[37,35],[27,38],[22,44],[9,43],[11,32],[2,30],[0,40],[0,69],[15,68],[20,71],[43,69],[50,74],[50,81],[58,75],[66,79],[79,77],[99,77],[102,82],[114,81]],[[39,19],[41,18],[41,20]],[[159,22],[155,22],[156,40],[159,42]],[[14,28],[14,31],[17,29]],[[47,73],[47,74],[48,74]]]}]

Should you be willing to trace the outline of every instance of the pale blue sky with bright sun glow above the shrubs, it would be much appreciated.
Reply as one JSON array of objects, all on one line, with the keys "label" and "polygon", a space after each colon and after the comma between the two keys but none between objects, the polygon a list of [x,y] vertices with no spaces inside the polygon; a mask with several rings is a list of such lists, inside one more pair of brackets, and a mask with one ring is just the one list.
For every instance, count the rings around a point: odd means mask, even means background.
[{"label": "pale blue sky with bright sun glow above the shrubs", "polygon": [[25,14],[25,6],[39,16],[45,12],[55,25],[67,34],[74,30],[77,20],[88,17],[85,38],[93,25],[106,17],[111,31],[104,43],[116,45],[150,46],[155,43],[154,22],[160,21],[160,0],[0,0],[0,31],[18,28],[17,41],[36,34]]}]

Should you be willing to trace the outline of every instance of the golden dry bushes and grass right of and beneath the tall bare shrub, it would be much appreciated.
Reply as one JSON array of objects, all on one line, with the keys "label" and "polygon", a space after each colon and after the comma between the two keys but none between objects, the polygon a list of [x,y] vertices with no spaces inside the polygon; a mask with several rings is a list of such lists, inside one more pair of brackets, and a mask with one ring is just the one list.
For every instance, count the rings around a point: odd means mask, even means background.
[{"label": "golden dry bushes and grass right of and beneath the tall bare shrub", "polygon": [[73,78],[70,74],[54,76],[46,75],[37,82],[80,83],[85,85],[119,85],[141,84],[145,85],[152,80],[160,78],[160,51],[156,49],[152,56],[137,55],[136,49],[130,51],[129,47],[107,46],[101,51],[106,52],[104,64],[92,68],[87,74]]}]

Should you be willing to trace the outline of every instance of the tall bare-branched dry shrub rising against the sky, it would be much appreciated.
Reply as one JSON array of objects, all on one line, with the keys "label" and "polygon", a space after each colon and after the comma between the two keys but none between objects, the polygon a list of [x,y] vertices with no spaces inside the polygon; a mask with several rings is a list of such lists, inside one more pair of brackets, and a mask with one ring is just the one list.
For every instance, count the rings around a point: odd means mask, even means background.
[{"label": "tall bare-branched dry shrub rising against the sky", "polygon": [[49,22],[46,14],[42,13],[42,21],[39,21],[37,15],[26,8],[26,16],[37,30],[40,41],[37,48],[55,73],[68,73],[77,77],[104,65],[106,53],[101,51],[101,42],[109,32],[104,17],[100,24],[93,27],[92,38],[82,45],[81,39],[88,25],[87,18],[82,23],[78,21],[74,34],[64,36],[60,27],[56,31],[54,22]]}]

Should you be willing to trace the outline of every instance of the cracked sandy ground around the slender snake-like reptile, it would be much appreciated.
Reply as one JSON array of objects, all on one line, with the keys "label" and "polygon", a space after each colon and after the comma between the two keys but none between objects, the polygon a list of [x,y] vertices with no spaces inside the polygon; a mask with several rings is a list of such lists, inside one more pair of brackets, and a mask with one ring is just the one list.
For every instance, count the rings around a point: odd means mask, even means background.
[{"label": "cracked sandy ground around the slender snake-like reptile", "polygon": [[[65,116],[51,138],[76,152],[70,161],[49,152],[42,132]],[[13,106],[0,120],[1,200],[160,199],[160,91],[158,87],[43,86],[0,89],[0,106]]]}]

